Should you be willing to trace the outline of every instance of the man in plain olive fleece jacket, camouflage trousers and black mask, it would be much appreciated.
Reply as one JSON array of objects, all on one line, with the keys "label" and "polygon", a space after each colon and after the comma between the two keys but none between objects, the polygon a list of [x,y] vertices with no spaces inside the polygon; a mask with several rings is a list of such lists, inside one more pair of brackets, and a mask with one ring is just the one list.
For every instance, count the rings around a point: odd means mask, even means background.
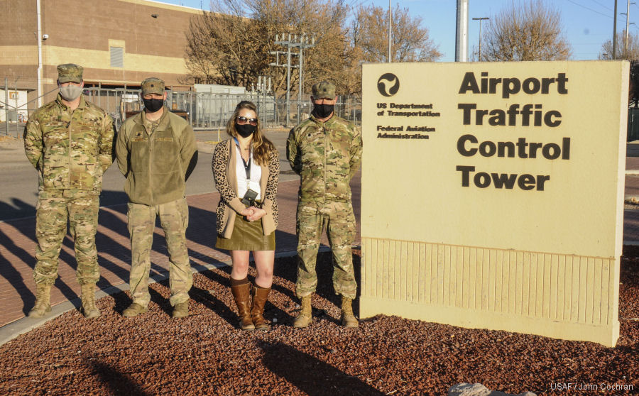
[{"label": "man in plain olive fleece jacket, camouflage trousers and black mask", "polygon": [[155,217],[166,237],[170,261],[170,304],[174,318],[189,314],[191,265],[186,246],[189,211],[185,182],[197,163],[195,133],[187,121],[163,105],[164,82],[148,78],[142,82],[144,110],[126,119],[116,144],[118,167],[126,177],[124,191],[129,196],[131,236],[131,298],[125,317],[146,312],[151,295],[151,245]]}]

